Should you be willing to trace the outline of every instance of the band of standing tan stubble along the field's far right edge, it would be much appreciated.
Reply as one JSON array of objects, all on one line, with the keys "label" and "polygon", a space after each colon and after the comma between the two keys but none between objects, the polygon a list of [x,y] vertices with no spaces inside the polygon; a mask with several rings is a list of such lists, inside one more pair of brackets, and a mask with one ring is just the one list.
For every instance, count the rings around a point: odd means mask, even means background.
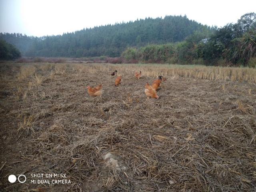
[{"label": "band of standing tan stubble along the field's far right edge", "polygon": [[174,64],[72,64],[77,72],[97,73],[98,71],[134,74],[142,71],[142,76],[156,77],[159,75],[185,78],[200,78],[206,80],[247,81],[256,83],[256,69],[243,67],[220,67],[203,65]]}]

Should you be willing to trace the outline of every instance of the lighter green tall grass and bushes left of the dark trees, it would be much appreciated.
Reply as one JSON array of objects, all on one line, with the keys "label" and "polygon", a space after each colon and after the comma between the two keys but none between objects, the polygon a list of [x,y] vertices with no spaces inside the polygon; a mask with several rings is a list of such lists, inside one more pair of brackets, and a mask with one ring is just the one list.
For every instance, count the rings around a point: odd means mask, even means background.
[{"label": "lighter green tall grass and bushes left of the dark trees", "polygon": [[199,63],[202,64],[202,57],[198,52],[198,42],[209,37],[212,32],[195,31],[185,41],[162,45],[147,45],[141,48],[128,48],[122,56],[126,60],[136,59],[144,62],[156,63]]}]

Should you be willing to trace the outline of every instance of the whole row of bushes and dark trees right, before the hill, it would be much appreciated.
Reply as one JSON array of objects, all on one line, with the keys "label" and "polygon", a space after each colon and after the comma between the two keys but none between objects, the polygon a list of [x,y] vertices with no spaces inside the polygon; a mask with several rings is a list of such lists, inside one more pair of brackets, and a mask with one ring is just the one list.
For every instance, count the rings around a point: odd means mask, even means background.
[{"label": "whole row of bushes and dark trees right, before the hill", "polygon": [[243,15],[213,34],[194,32],[183,42],[128,48],[126,60],[206,65],[256,65],[256,14]]}]

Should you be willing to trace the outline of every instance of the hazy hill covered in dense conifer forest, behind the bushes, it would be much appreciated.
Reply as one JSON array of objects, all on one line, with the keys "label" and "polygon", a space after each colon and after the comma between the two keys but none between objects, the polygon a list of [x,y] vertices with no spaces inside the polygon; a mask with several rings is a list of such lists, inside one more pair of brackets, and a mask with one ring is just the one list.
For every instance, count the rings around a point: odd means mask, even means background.
[{"label": "hazy hill covered in dense conifer forest, behind the bushes", "polygon": [[91,57],[120,56],[130,46],[179,42],[195,31],[206,33],[209,26],[186,16],[146,18],[134,22],[86,28],[57,36],[28,37],[21,34],[0,34],[20,49],[23,56]]}]

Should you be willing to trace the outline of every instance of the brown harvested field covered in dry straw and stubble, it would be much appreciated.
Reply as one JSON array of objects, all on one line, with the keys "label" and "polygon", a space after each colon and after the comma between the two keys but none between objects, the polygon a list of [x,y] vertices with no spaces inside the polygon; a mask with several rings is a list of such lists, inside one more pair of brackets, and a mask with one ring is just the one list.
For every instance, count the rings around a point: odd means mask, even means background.
[{"label": "brown harvested field covered in dry straw and stubble", "polygon": [[[1,63],[0,78],[0,191],[256,191],[256,69]],[[88,96],[98,84],[102,98]]]}]

